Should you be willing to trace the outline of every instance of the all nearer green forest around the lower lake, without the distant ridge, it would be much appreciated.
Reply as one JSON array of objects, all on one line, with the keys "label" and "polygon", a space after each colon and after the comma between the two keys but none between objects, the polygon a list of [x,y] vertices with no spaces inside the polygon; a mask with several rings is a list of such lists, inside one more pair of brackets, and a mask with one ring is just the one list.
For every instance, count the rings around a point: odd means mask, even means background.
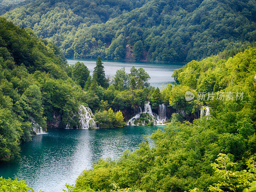
[{"label": "all nearer green forest around the lower lake, without the distant ridge", "polygon": [[[255,191],[255,47],[228,59],[220,53],[193,60],[173,74],[179,84],[159,90],[148,85],[149,76],[142,68],[131,68],[129,74],[120,69],[109,85],[100,58],[90,77],[86,66],[78,62],[68,67],[56,46],[38,39],[31,31],[4,18],[0,29],[2,160],[18,155],[19,141],[30,139],[29,118],[44,126],[50,114],[61,109],[63,121],[67,121],[80,103],[88,104],[109,122],[114,116],[120,119],[120,112],[117,115],[118,111],[115,114],[109,108],[122,110],[124,101],[132,101],[131,106],[150,100],[152,107],[164,102],[186,114],[207,105],[210,116],[188,122],[173,113],[166,129],[150,136],[153,146],[145,138],[138,150],[124,151],[116,161],[100,159],[93,169],[81,173],[75,186],[67,184],[64,191]],[[53,91],[56,89],[58,92]],[[186,101],[188,90],[195,97],[205,92],[207,99]],[[210,97],[220,92],[243,92],[243,98]],[[99,103],[92,105],[88,98]],[[4,191],[31,190],[24,181],[1,178],[0,183]]]}]

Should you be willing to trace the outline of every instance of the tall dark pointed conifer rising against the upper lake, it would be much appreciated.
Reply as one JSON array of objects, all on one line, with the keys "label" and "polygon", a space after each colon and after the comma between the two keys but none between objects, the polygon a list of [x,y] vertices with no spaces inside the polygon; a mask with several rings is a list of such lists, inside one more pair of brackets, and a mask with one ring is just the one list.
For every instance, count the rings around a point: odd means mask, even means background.
[{"label": "tall dark pointed conifer rising against the upper lake", "polygon": [[108,82],[106,79],[104,66],[102,65],[100,57],[98,57],[98,61],[96,62],[96,66],[94,67],[93,75],[97,78],[97,82],[103,88],[108,88]]}]

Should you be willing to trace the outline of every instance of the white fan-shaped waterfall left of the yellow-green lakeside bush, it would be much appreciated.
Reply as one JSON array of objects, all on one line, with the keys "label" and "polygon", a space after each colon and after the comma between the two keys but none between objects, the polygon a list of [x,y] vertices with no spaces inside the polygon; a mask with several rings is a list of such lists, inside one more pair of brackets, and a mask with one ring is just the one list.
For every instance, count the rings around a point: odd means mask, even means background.
[{"label": "white fan-shaped waterfall left of the yellow-green lakeside bush", "polygon": [[80,119],[79,120],[80,126],[82,129],[96,128],[96,123],[93,120],[94,115],[92,114],[92,110],[89,107],[80,105],[78,110],[78,115]]}]

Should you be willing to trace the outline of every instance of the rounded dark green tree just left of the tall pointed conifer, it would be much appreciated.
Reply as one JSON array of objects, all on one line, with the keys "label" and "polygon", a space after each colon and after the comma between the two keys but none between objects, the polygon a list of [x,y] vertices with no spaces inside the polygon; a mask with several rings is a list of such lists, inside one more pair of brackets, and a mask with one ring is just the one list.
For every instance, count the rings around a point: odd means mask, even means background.
[{"label": "rounded dark green tree just left of the tall pointed conifer", "polygon": [[84,84],[90,75],[90,71],[84,65],[84,63],[77,61],[76,64],[72,67],[72,75],[77,84],[84,88]]}]

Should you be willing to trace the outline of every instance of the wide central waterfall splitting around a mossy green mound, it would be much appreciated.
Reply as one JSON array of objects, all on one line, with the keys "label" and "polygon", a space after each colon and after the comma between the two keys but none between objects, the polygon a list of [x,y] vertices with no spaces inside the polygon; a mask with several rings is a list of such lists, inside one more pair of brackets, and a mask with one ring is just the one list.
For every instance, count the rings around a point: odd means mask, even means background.
[{"label": "wide central waterfall splitting around a mossy green mound", "polygon": [[[139,107],[140,108],[140,107]],[[143,115],[146,114],[146,115]],[[147,115],[148,114],[148,115]],[[154,125],[161,125],[167,119],[166,106],[164,104],[159,105],[158,115],[152,112],[150,102],[146,103],[142,112],[141,108],[138,109],[138,113],[128,121],[127,125],[147,125],[148,122],[153,122]],[[146,121],[145,121],[146,120]]]}]

